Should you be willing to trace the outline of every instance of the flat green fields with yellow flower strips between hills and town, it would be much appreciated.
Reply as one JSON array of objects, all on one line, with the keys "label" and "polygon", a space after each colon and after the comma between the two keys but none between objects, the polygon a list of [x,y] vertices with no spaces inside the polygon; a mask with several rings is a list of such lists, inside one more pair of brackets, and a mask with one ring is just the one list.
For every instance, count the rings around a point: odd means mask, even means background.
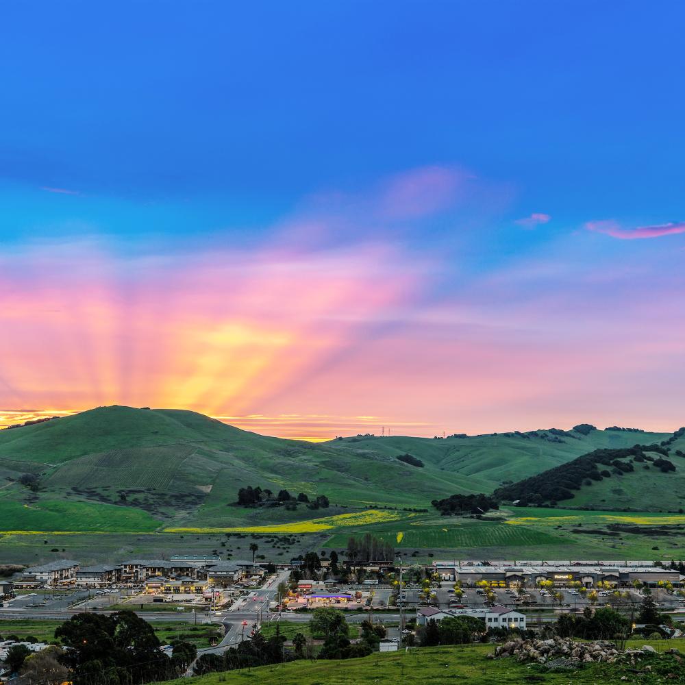
[{"label": "flat green fields with yellow flower strips between hills and town", "polygon": [[[322,512],[323,513],[323,512]],[[323,522],[323,525],[322,525]],[[630,532],[609,530],[627,525]],[[654,531],[660,534],[655,535]],[[369,532],[417,562],[435,560],[647,560],[683,557],[685,514],[591,512],[510,508],[482,520],[458,516],[379,510],[353,516],[312,516],[273,527],[245,525],[205,532],[0,532],[5,563],[38,564],[73,558],[90,564],[169,554],[210,554],[241,559],[250,543],[275,563],[311,549],[338,551],[350,536]],[[309,532],[316,531],[316,532]],[[643,532],[644,531],[644,532]],[[258,556],[259,559],[259,556]]]}]

